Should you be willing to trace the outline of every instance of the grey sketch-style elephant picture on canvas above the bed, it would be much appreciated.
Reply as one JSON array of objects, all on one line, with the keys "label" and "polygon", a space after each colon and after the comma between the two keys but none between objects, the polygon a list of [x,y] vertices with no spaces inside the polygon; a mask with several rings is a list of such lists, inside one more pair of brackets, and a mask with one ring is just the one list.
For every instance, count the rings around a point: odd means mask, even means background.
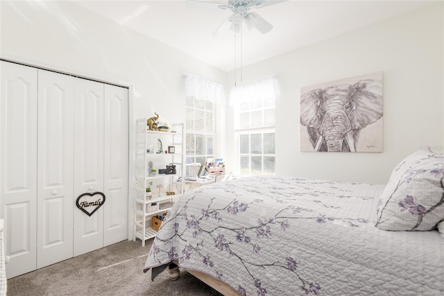
[{"label": "grey sketch-style elephant picture on canvas above the bed", "polygon": [[[381,118],[382,78],[311,89],[300,98],[300,123],[307,127],[311,151],[357,152],[361,130]],[[382,125],[372,137],[382,143]],[[366,151],[382,149],[366,147]]]}]

